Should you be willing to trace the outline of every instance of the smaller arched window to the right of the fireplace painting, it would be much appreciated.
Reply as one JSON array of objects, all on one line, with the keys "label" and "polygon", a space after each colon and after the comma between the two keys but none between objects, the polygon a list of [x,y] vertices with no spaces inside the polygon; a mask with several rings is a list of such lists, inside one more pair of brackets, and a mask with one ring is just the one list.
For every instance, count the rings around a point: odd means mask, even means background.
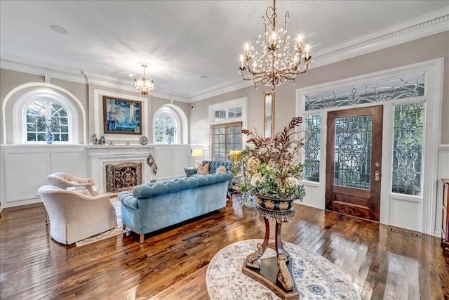
[{"label": "smaller arched window to the right of the fireplace painting", "polygon": [[178,122],[173,112],[163,110],[154,117],[154,142],[179,143]]}]

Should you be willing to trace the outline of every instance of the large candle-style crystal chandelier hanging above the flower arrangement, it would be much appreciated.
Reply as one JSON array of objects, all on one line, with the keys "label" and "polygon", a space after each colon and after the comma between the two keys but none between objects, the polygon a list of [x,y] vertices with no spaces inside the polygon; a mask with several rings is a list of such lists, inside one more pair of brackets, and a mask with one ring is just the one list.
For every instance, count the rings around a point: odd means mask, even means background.
[{"label": "large candle-style crystal chandelier hanging above the flower arrangement", "polygon": [[273,6],[267,8],[265,16],[262,15],[264,35],[262,37],[259,34],[255,41],[259,47],[256,50],[254,46],[245,45],[245,55],[240,56],[239,73],[243,80],[275,89],[275,86],[288,80],[295,82],[297,74],[307,72],[311,62],[310,48],[308,44],[305,48],[302,47],[302,37],[299,34],[293,51],[290,50],[290,35],[287,34],[290,12],[286,13],[284,26],[276,29],[276,0],[273,1]]}]

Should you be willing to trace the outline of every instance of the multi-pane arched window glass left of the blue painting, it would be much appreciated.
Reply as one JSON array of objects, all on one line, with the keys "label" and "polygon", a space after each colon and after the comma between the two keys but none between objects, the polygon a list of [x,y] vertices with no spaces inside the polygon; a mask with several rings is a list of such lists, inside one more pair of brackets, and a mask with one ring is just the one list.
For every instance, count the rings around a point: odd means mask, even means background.
[{"label": "multi-pane arched window glass left of the blue painting", "polygon": [[69,115],[60,103],[36,100],[26,107],[26,142],[45,141],[46,131],[51,131],[55,142],[69,142]]}]

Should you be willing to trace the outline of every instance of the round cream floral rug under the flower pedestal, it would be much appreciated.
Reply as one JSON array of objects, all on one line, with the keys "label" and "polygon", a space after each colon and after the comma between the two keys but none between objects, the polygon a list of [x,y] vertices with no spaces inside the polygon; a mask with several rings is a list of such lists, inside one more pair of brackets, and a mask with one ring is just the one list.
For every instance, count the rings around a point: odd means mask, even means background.
[{"label": "round cream floral rug under the flower pedestal", "polygon": [[[206,287],[210,299],[279,299],[274,292],[241,272],[243,261],[255,252],[257,242],[243,240],[221,249],[210,261],[206,271]],[[293,259],[293,279],[300,299],[361,299],[347,276],[319,254],[296,244],[284,245]],[[267,248],[262,259],[276,256]]]}]

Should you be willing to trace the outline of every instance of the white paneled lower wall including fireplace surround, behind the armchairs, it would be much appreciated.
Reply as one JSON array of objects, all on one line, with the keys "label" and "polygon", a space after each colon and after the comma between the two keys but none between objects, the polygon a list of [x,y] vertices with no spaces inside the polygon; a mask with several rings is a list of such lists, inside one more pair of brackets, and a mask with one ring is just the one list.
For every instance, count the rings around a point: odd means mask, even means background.
[{"label": "white paneled lower wall including fireplace surround, behind the armchairs", "polygon": [[41,202],[36,192],[55,172],[92,177],[100,193],[106,193],[105,164],[137,161],[142,183],[148,182],[150,154],[157,164],[156,180],[183,177],[184,168],[192,166],[190,145],[1,145],[0,210]]}]

